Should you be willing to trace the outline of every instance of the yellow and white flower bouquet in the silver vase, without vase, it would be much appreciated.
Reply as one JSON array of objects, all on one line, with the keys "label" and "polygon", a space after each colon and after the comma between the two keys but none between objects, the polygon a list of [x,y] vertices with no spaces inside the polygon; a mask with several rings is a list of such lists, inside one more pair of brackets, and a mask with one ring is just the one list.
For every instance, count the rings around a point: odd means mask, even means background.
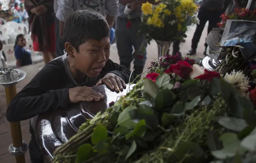
[{"label": "yellow and white flower bouquet in the silver vase, without vase", "polygon": [[141,31],[149,38],[174,41],[185,36],[187,24],[196,23],[197,6],[193,0],[163,0],[157,5],[142,4]]}]

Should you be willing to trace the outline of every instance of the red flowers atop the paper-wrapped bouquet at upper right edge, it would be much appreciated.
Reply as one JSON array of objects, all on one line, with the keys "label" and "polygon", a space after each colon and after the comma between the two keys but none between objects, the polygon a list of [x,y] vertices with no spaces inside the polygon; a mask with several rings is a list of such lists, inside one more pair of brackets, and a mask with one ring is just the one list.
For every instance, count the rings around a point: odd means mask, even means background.
[{"label": "red flowers atop the paper-wrapped bouquet at upper right edge", "polygon": [[246,8],[242,8],[242,9],[235,8],[234,14],[226,15],[224,13],[220,16],[220,18],[222,18],[222,21],[218,23],[218,26],[220,28],[225,28],[226,22],[229,19],[256,21],[256,9],[254,9],[253,11],[249,11]]}]

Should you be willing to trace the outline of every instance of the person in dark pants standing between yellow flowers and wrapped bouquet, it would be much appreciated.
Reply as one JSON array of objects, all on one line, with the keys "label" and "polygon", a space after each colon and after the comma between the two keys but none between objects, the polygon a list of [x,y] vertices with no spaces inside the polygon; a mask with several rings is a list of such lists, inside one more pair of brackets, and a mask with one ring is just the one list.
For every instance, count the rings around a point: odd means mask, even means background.
[{"label": "person in dark pants standing between yellow flowers and wrapped bouquet", "polygon": [[[209,21],[208,24],[208,34],[211,32],[212,28],[217,28],[217,23],[220,22],[220,16],[223,12],[224,8],[224,0],[203,0],[198,11],[198,18],[200,23],[196,26],[196,31],[192,38],[191,50],[187,53],[187,55],[196,54],[196,48],[198,47],[198,42],[204,30],[204,26],[206,22]],[[206,55],[207,44],[204,44]]]}]

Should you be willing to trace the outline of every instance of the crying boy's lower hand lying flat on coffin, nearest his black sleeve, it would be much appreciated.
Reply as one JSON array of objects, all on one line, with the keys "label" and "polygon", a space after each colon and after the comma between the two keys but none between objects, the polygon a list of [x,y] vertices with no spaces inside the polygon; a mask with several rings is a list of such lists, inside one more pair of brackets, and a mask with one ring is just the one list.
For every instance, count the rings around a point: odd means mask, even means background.
[{"label": "crying boy's lower hand lying flat on coffin, nearest his black sleeve", "polygon": [[104,99],[104,96],[91,87],[83,86],[69,89],[69,100],[71,103],[77,103],[79,101],[100,101],[101,99]]}]

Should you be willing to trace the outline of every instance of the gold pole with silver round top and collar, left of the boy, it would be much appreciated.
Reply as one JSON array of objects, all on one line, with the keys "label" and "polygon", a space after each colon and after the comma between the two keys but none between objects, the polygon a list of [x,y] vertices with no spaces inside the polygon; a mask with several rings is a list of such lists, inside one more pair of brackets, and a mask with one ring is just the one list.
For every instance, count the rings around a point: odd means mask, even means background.
[{"label": "gold pole with silver round top and collar, left of the boy", "polygon": [[[5,88],[8,106],[16,95],[16,84],[23,80],[25,76],[26,73],[24,71],[13,68],[4,68],[0,72],[0,84]],[[16,163],[26,163],[24,153],[28,150],[28,144],[22,141],[20,122],[11,122],[10,126],[12,144],[9,146],[8,151],[11,155],[15,156]]]}]

